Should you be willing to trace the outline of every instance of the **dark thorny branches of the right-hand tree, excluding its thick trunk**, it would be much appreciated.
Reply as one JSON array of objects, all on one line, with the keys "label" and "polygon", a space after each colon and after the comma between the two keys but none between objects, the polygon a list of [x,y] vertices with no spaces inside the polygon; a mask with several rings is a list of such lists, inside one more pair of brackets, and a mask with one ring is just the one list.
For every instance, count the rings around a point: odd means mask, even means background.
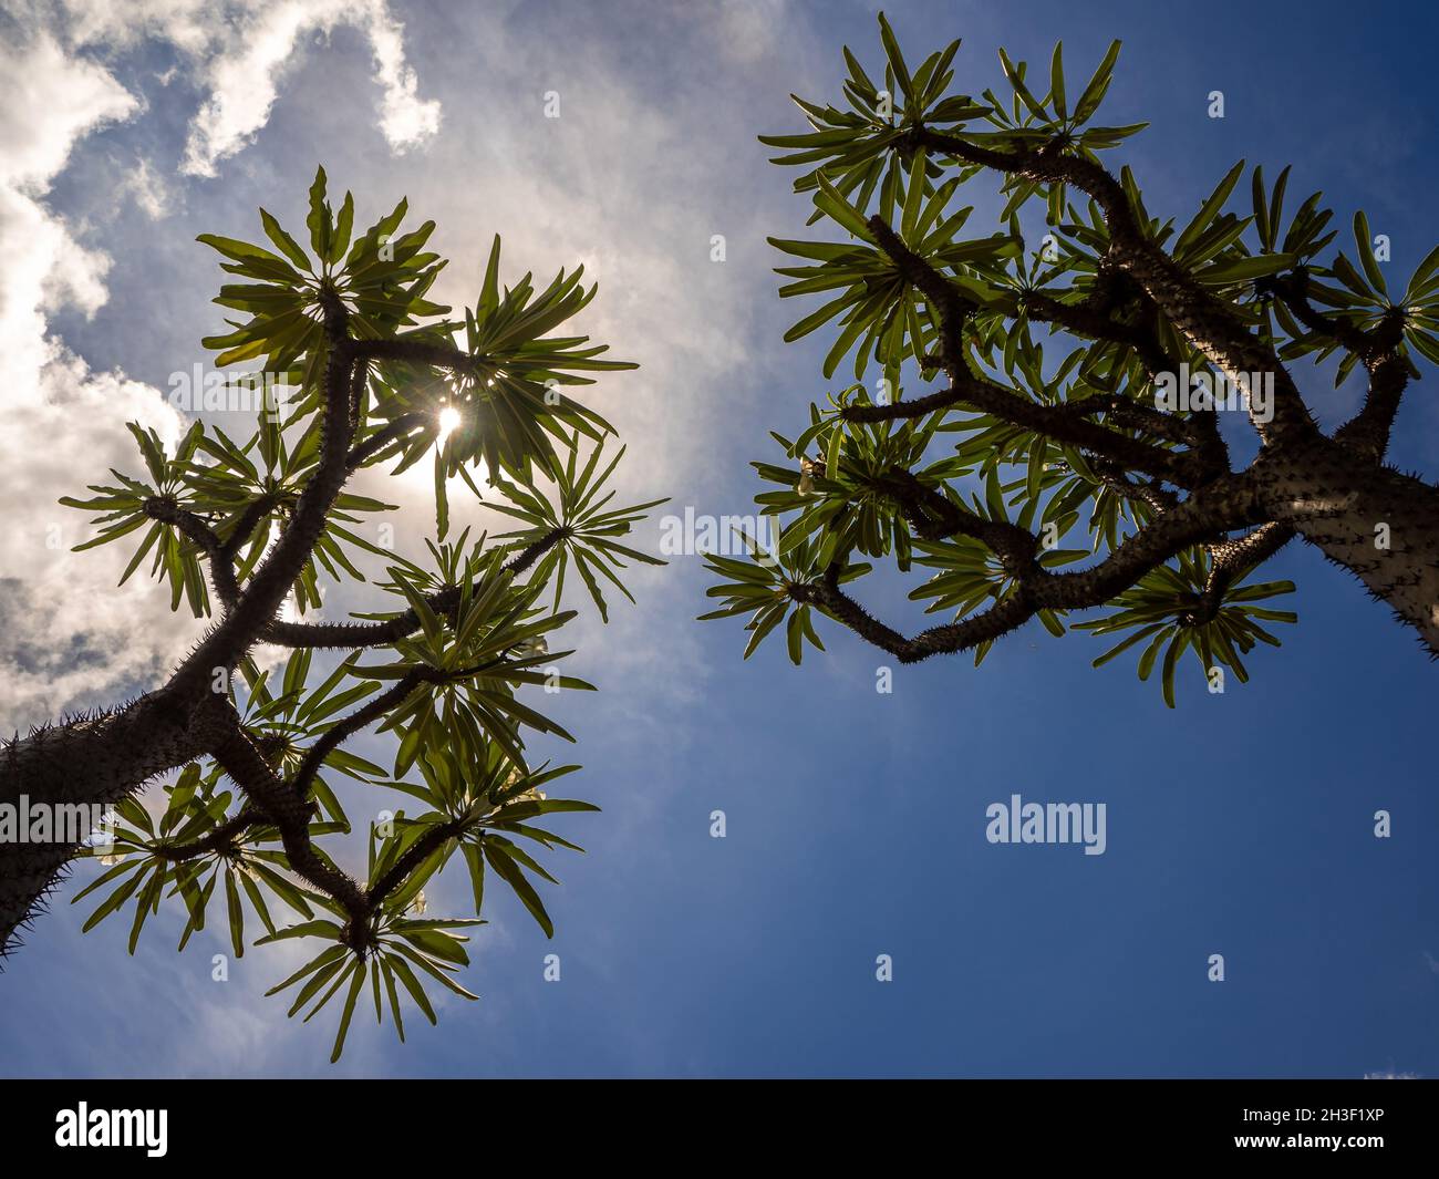
[{"label": "dark thorny branches of the right-hand tree, excluding its thick trunk", "polygon": [[[839,587],[842,561],[833,563],[817,582],[789,586],[789,595],[796,602],[823,609],[899,661],[912,662],[999,638],[1040,609],[1102,605],[1148,570],[1194,544],[1203,544],[1212,564],[1197,613],[1213,618],[1236,577],[1268,560],[1297,536],[1292,517],[1274,518],[1262,505],[1263,491],[1275,482],[1269,475],[1271,455],[1288,448],[1325,445],[1278,354],[1148,238],[1124,186],[1092,160],[1065,154],[1058,141],[1006,151],[924,125],[912,128],[909,135],[914,145],[961,164],[1032,181],[1069,184],[1092,197],[1099,207],[1109,246],[1099,259],[1094,288],[1078,302],[1029,292],[1020,299],[1017,314],[1127,348],[1151,377],[1177,369],[1156,330],[1156,324],[1164,320],[1220,371],[1274,373],[1274,420],[1255,420],[1262,439],[1261,456],[1248,471],[1235,472],[1212,410],[1184,417],[1122,394],[1040,405],[1017,390],[1004,389],[979,369],[966,344],[967,322],[980,305],[914,253],[884,219],[871,217],[868,227],[873,240],[938,317],[940,353],[924,357],[924,363],[925,367],[941,367],[950,383],[947,389],[912,400],[846,406],[840,412],[842,419],[853,423],[894,422],[957,406],[979,410],[1053,442],[1079,448],[1105,485],[1127,498],[1143,501],[1151,518],[1094,567],[1078,573],[1049,573],[1035,560],[1039,547],[1036,536],[1017,525],[983,520],[907,471],[891,472],[879,489],[892,495],[914,534],[928,541],[951,536],[980,540],[996,553],[1013,579],[1009,592],[977,615],[934,626],[914,638],[905,638],[871,616]],[[1399,354],[1403,311],[1396,308],[1379,327],[1361,331],[1317,311],[1305,295],[1302,272],[1265,279],[1258,288],[1261,294],[1282,299],[1307,328],[1361,358],[1370,376],[1364,405],[1334,433],[1333,442],[1351,459],[1377,466],[1409,380],[1409,367]],[[1120,318],[1127,304],[1138,308],[1137,318]],[[1104,422],[1094,420],[1101,416]],[[1183,449],[1174,449],[1177,446]],[[1324,453],[1330,455],[1328,451]],[[1132,475],[1145,478],[1135,479]],[[1248,531],[1229,536],[1238,530]]]}]

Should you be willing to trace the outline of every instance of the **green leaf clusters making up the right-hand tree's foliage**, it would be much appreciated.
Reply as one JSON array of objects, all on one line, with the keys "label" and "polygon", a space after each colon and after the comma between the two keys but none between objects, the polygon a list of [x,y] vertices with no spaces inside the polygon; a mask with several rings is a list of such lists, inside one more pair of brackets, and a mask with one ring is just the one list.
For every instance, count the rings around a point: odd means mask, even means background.
[{"label": "green leaf clusters making up the right-hand tree's foliage", "polygon": [[[1120,341],[1066,337],[1058,357],[1046,363],[1036,335],[1058,328],[1052,315],[1033,311],[1042,299],[1073,305],[1104,294],[1122,322],[1154,322],[1158,345],[1176,363],[1187,363],[1191,370],[1206,367],[1189,340],[1145,311],[1132,284],[1125,288],[1121,279],[1115,285],[1117,278],[1104,262],[1109,229],[1094,200],[1084,197],[1076,206],[1062,183],[990,173],[997,176],[1003,199],[999,230],[964,233],[973,204],[958,206],[960,190],[986,170],[947,151],[948,143],[1010,153],[1045,147],[1049,153],[1101,163],[1102,153],[1144,128],[1145,124],[1097,122],[1114,78],[1118,42],[1082,88],[1071,86],[1066,79],[1062,45],[1055,46],[1038,85],[1038,72],[1000,50],[1003,94],[989,88],[979,91],[977,98],[973,88],[954,86],[958,42],[912,68],[881,13],[879,48],[881,72],[866,72],[859,58],[845,49],[848,78],[842,107],[794,96],[809,130],[760,137],[780,150],[773,163],[800,168],[794,190],[813,203],[809,225],[825,223],[832,230],[819,240],[771,239],[789,255],[776,269],[784,279],[781,298],[822,297],[820,305],[794,322],[786,340],[830,325],[833,337],[820,360],[825,379],[832,379],[852,357],[856,383],[827,394],[826,405],[812,405],[810,425],[797,439],[773,435],[784,449],[786,465],[754,464],[761,479],[778,485],[755,497],[776,523],[783,521],[777,551],[753,544],[748,560],[709,559],[718,577],[709,593],[722,606],[704,618],[747,615],[745,656],[789,618],[790,654],[799,662],[802,639],[813,633],[813,626],[809,606],[803,618],[800,610],[791,610],[787,587],[813,583],[832,566],[842,570],[842,580],[861,577],[873,566],[859,557],[892,559],[899,572],[911,563],[932,570],[930,580],[909,595],[924,602],[927,612],[964,618],[1013,592],[1010,573],[984,544],[966,537],[941,541],[918,537],[902,502],[891,494],[892,487],[885,488],[886,474],[908,472],[957,507],[1042,536],[1040,564],[1046,569],[1108,554],[1154,518],[1156,501],[1166,494],[1148,476],[1109,469],[1111,465],[1081,448],[987,413],[953,407],[902,425],[845,423],[840,415],[846,406],[898,400],[907,374],[930,380],[940,367],[938,308],[879,248],[872,217],[894,230],[968,305],[963,348],[971,370],[1038,405],[1062,406],[1102,394],[1154,406],[1154,387],[1143,357]],[[1286,223],[1288,168],[1274,190],[1255,168],[1253,213],[1230,212],[1227,204],[1243,170],[1243,161],[1236,164],[1184,225],[1151,216],[1128,168],[1121,168],[1118,177],[1141,232],[1227,301],[1245,322],[1265,325],[1276,320],[1278,330],[1288,333],[1278,343],[1288,343],[1291,353],[1322,344],[1311,340],[1278,305],[1271,318],[1272,301],[1263,295],[1263,284],[1278,275],[1309,274],[1315,278],[1311,284],[1315,301],[1343,307],[1343,315],[1356,325],[1373,325],[1389,304],[1381,279],[1371,274],[1367,249],[1360,250],[1360,258],[1371,291],[1361,294],[1354,285],[1358,271],[1347,266],[1343,256],[1328,268],[1315,261],[1334,236],[1327,233],[1330,213],[1320,206],[1321,196],[1304,202]],[[1042,242],[1029,249],[1025,226],[1036,214],[1042,229],[1032,236],[1042,236]],[[1357,220],[1356,235],[1367,239],[1367,227],[1360,225]],[[1331,276],[1340,286],[1321,285]],[[1406,294],[1406,301],[1415,304],[1406,312],[1412,331],[1406,340],[1420,351],[1430,347],[1430,337],[1423,333],[1433,325],[1433,305],[1423,301],[1435,298],[1439,298],[1439,252],[1420,265]],[[873,364],[878,374],[871,377]],[[1099,415],[1097,420],[1151,446],[1179,445],[1121,425],[1114,415]],[[947,439],[955,439],[950,449],[944,445]],[[1170,579],[1189,584],[1206,560],[1202,554],[1183,554],[1151,573],[1132,593],[1150,592],[1154,584],[1168,586]],[[1266,584],[1265,596],[1269,590],[1284,592],[1285,584]],[[1233,667],[1243,679],[1239,654],[1255,641],[1271,641],[1250,629],[1252,619],[1291,618],[1282,612],[1255,613],[1252,590],[1232,583],[1216,618],[1197,628],[1186,623],[1193,606],[1189,592],[1151,596],[1145,609],[1160,613],[1147,616],[1145,625],[1158,623],[1154,635],[1163,631],[1166,639],[1180,643],[1179,649],[1189,643],[1202,658],[1213,656]],[[1117,599],[1115,606],[1122,607],[1121,613],[1137,609],[1128,597]],[[1040,623],[1053,635],[1066,628],[1059,612],[1040,612]],[[1094,629],[1088,623],[1086,628]],[[976,662],[989,649],[990,643],[977,648]],[[1171,694],[1166,687],[1167,700]]]}]

